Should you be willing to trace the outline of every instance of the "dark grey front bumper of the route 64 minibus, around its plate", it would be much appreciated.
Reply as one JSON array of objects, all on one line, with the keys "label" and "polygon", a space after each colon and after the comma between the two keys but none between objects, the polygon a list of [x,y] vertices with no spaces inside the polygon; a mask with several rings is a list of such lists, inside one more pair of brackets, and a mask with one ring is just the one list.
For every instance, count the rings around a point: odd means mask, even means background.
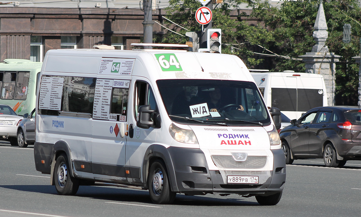
[{"label": "dark grey front bumper of the route 64 minibus, around its plate", "polygon": [[[169,147],[179,192],[187,195],[212,194],[274,194],[282,192],[286,181],[286,163],[282,149],[271,150],[273,171],[236,171],[234,175],[258,176],[260,184],[227,184],[219,171],[209,171],[200,149]],[[231,171],[227,172],[228,175]],[[261,181],[262,180],[262,181]]]}]

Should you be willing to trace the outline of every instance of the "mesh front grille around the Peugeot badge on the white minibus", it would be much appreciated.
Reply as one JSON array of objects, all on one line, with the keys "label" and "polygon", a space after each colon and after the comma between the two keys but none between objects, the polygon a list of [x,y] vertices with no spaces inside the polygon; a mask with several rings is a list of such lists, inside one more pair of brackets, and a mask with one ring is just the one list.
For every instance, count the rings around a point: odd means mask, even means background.
[{"label": "mesh front grille around the Peugeot badge on the white minibus", "polygon": [[267,156],[247,156],[245,161],[235,161],[231,155],[212,155],[217,167],[226,169],[259,169],[267,162]]}]

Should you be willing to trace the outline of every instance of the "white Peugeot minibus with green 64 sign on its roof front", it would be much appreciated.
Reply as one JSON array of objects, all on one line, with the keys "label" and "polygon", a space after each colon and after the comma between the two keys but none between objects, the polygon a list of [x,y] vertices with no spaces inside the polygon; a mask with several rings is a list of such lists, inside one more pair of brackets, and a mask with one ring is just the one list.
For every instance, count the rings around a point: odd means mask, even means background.
[{"label": "white Peugeot minibus with green 64 sign on its roof front", "polygon": [[[217,101],[217,102],[216,102]],[[36,170],[79,185],[279,202],[285,155],[241,59],[183,50],[49,50],[36,107]],[[280,112],[272,108],[280,127]]]}]

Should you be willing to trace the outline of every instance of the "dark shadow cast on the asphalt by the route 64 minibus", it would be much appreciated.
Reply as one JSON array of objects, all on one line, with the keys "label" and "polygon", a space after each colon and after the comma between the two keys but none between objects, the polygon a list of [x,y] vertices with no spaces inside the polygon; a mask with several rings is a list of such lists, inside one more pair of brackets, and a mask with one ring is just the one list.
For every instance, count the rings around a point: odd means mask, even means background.
[{"label": "dark shadow cast on the asphalt by the route 64 minibus", "polygon": [[[0,185],[0,187],[5,189],[12,189],[18,191],[27,191],[27,192],[38,192],[42,194],[53,194],[57,195],[55,186],[51,185]],[[208,194],[210,195],[210,194]],[[146,203],[149,205],[154,205],[149,197],[148,191],[143,190],[132,190],[116,187],[99,187],[99,186],[80,186],[77,194],[75,196],[100,199],[104,202],[114,202],[114,203]],[[244,201],[244,199],[239,196],[239,198],[214,198],[210,196],[186,196],[183,194],[177,194],[177,197],[173,205],[184,205],[184,206],[259,206],[257,202]],[[107,200],[107,201],[106,201]]]}]

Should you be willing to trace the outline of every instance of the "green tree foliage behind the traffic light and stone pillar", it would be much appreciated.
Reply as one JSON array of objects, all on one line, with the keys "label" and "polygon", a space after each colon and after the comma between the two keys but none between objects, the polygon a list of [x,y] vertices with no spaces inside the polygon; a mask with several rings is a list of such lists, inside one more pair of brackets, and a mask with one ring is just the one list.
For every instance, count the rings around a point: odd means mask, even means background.
[{"label": "green tree foliage behind the traffic light and stone pillar", "polygon": [[[169,3],[168,19],[189,31],[201,30],[195,20],[195,11],[201,6],[199,1],[170,0]],[[237,14],[235,9],[241,3],[248,4],[251,14]],[[262,0],[224,0],[222,4],[213,4],[213,28],[222,29],[222,53],[239,56],[249,68],[304,72],[305,63],[296,59],[311,52],[315,44],[312,34],[318,6],[319,0],[284,1],[279,7],[272,7]],[[358,64],[352,57],[360,55],[358,0],[326,0],[323,6],[329,32],[326,45],[330,52],[342,56],[336,63],[336,104],[357,105]],[[170,22],[164,23],[182,35],[187,32]],[[342,41],[345,23],[352,26],[349,44]],[[163,43],[184,44],[187,40],[188,37],[170,31],[162,37]],[[255,52],[283,57],[262,56]]]}]

